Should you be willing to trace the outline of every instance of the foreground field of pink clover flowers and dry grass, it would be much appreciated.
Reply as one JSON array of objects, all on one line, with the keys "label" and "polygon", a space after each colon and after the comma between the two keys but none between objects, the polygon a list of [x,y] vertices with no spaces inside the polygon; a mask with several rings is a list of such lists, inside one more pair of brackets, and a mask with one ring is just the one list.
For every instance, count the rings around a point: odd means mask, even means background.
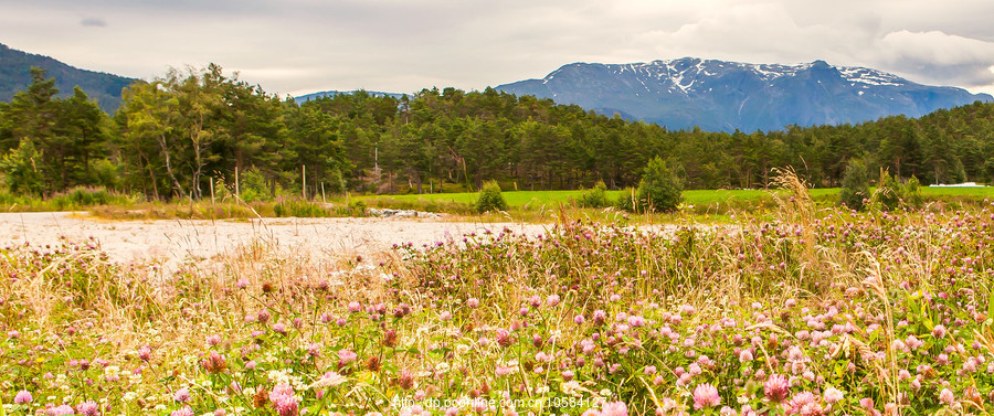
[{"label": "foreground field of pink clover flowers and dry grass", "polygon": [[564,222],[177,274],[0,250],[0,415],[994,409],[994,207]]}]

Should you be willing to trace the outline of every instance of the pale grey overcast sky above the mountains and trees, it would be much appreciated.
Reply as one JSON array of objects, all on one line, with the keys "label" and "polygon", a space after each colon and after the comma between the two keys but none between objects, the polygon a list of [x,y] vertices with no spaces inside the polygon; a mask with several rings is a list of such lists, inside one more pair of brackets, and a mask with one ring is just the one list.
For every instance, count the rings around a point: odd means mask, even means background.
[{"label": "pale grey overcast sky above the mountains and trees", "polygon": [[0,43],[139,78],[213,62],[269,93],[483,89],[573,62],[869,66],[994,93],[991,0],[0,0]]}]

